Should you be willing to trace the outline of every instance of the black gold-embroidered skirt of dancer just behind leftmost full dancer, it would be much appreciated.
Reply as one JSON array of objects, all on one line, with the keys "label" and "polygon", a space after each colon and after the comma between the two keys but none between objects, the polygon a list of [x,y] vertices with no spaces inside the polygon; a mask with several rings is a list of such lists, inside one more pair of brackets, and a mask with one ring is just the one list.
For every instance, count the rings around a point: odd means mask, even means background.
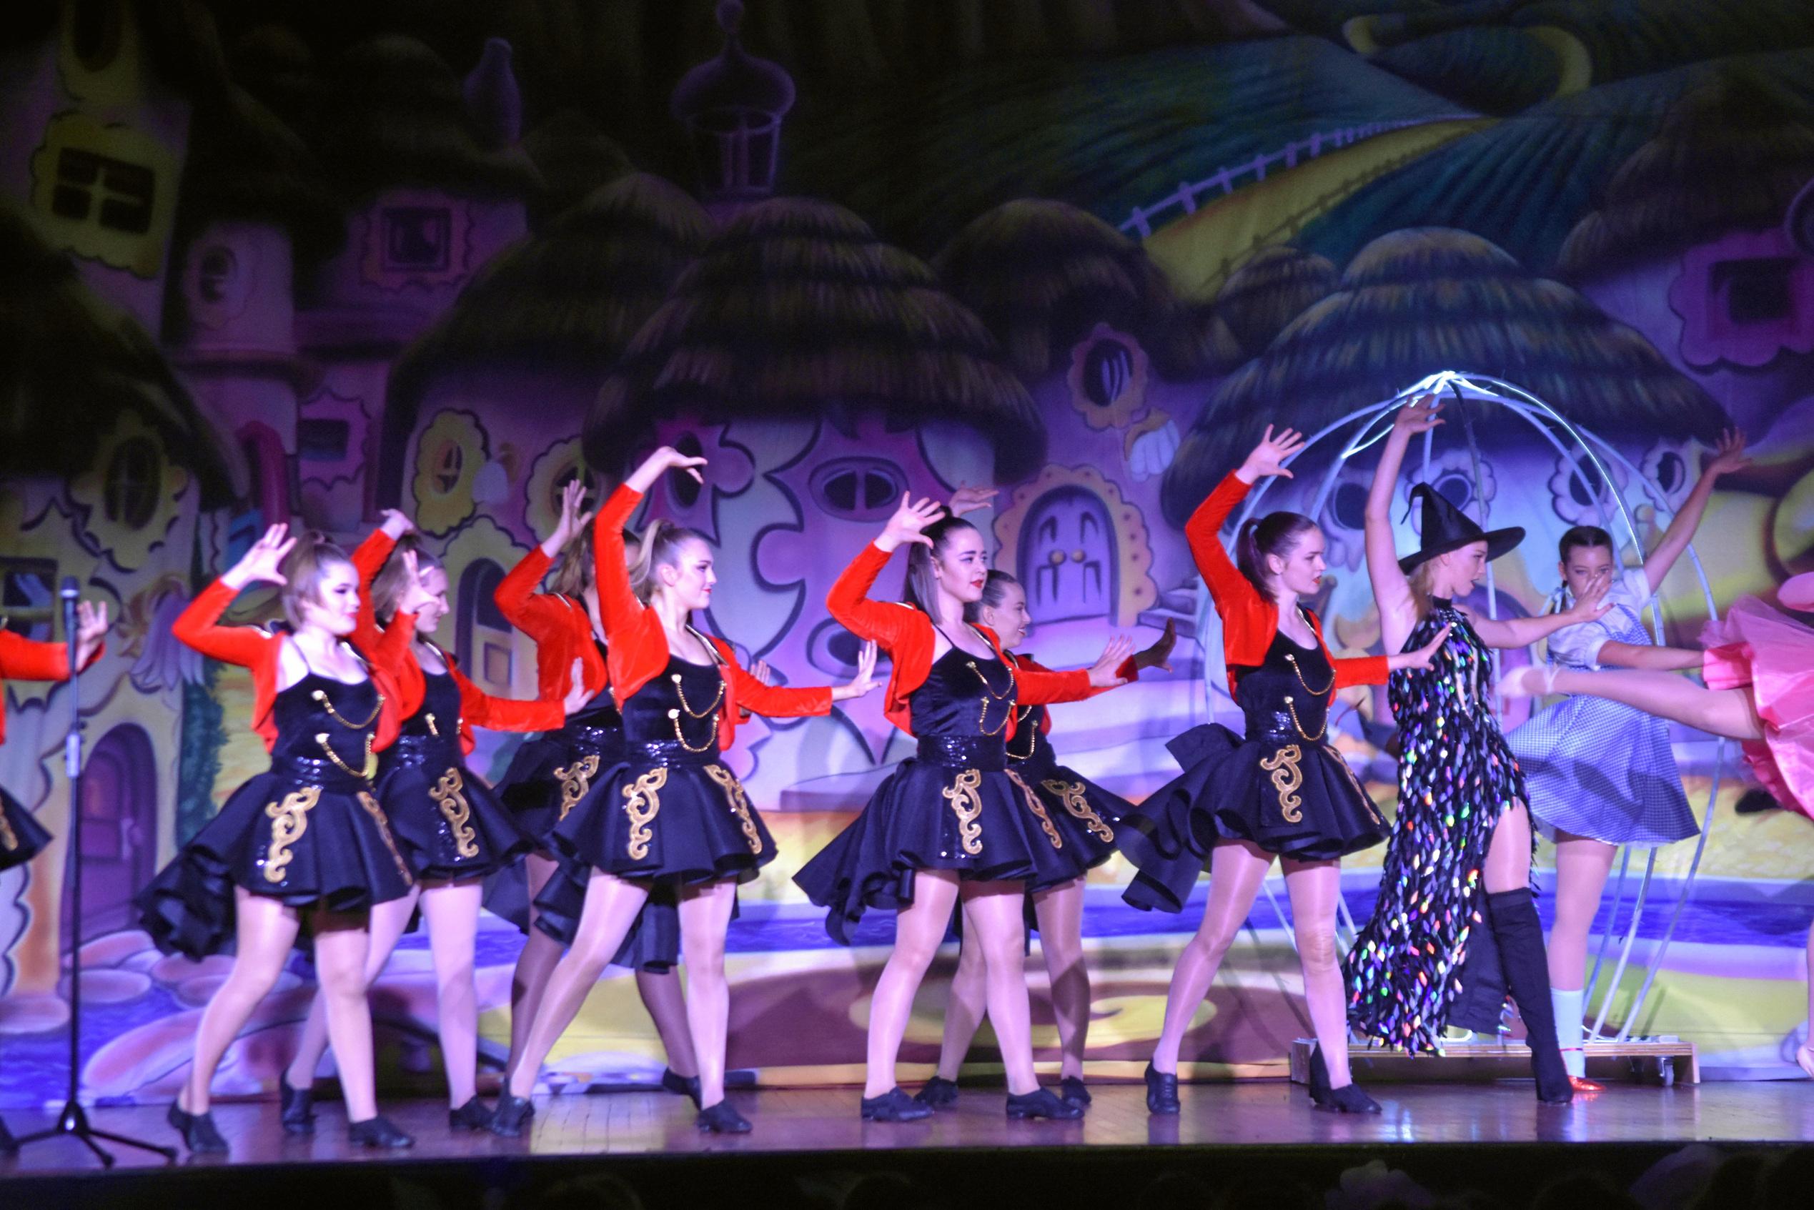
[{"label": "black gold-embroidered skirt of dancer just behind leftmost full dancer", "polygon": [[423,882],[484,878],[535,847],[446,737],[401,735],[379,764],[377,800],[410,873]]}]

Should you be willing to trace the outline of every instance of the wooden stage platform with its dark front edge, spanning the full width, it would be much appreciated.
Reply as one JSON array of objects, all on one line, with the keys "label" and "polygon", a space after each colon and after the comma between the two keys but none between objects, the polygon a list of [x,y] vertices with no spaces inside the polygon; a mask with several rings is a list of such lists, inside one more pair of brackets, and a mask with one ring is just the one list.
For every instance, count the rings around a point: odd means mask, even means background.
[{"label": "wooden stage platform with its dark front edge, spanning the full width", "polygon": [[[323,1199],[336,1195],[379,1195],[348,1201],[348,1210],[502,1210],[519,1205],[519,1194],[537,1190],[541,1197],[562,1183],[602,1179],[600,1172],[611,1174],[606,1185],[613,1190],[613,1181],[626,1183],[633,1199],[593,1197],[586,1205],[749,1206],[751,1190],[762,1188],[776,1194],[762,1205],[811,1206],[816,1203],[802,1190],[831,1174],[907,1181],[938,1192],[952,1208],[1003,1210],[1036,1197],[1059,1199],[1048,1205],[1085,1205],[1085,1195],[1126,1201],[1165,1174],[1212,1190],[1284,1179],[1321,1205],[1321,1192],[1335,1188],[1344,1170],[1371,1159],[1431,1190],[1491,1181],[1504,1197],[1535,1194],[1576,1168],[1631,1181],[1692,1141],[1751,1147],[1814,1139],[1814,1087],[1805,1081],[1616,1085],[1565,1108],[1540,1107],[1527,1079],[1379,1085],[1373,1092],[1384,1114],[1344,1117],[1312,1112],[1302,1088],[1282,1079],[1188,1085],[1183,1116],[1150,1117],[1137,1085],[1097,1085],[1081,1123],[1016,1123],[1003,1116],[1001,1088],[965,1088],[956,1110],[911,1125],[860,1121],[854,1088],[735,1092],[756,1127],[742,1137],[700,1134],[691,1105],[662,1092],[539,1099],[522,1139],[454,1134],[444,1103],[408,1101],[385,1108],[417,1145],[383,1154],[346,1147],[334,1103],[321,1107],[314,1139],[287,1137],[276,1105],[219,1105],[216,1119],[234,1147],[229,1159],[185,1157],[167,1168],[154,1156],[116,1148],[120,1166],[103,1174],[78,1143],[58,1139],[0,1159],[0,1205],[321,1210]],[[105,1130],[174,1141],[161,1107],[98,1108],[93,1117]],[[44,1114],[9,1112],[7,1121],[20,1134],[47,1125]],[[600,1159],[610,1163],[600,1166]],[[417,1186],[419,1195],[405,1195]],[[800,1197],[784,1195],[787,1190]]]}]

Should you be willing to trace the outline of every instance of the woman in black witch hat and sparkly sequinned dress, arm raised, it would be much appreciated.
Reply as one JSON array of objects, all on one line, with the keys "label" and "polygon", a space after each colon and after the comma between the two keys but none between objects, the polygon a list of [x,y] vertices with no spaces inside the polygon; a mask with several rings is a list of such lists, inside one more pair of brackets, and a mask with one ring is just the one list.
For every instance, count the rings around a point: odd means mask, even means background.
[{"label": "woman in black witch hat and sparkly sequinned dress, arm raised", "polygon": [[1390,682],[1404,735],[1399,818],[1373,916],[1348,951],[1350,1021],[1413,1052],[1439,1049],[1451,1020],[1497,1029],[1509,985],[1529,1034],[1536,1098],[1562,1105],[1573,1088],[1556,1049],[1544,929],[1533,903],[1527,795],[1487,704],[1487,649],[1529,646],[1600,619],[1605,586],[1547,617],[1486,619],[1455,604],[1487,559],[1507,553],[1524,530],[1486,533],[1428,484],[1411,492],[1422,501],[1422,544],[1415,555],[1395,557],[1391,495],[1404,450],[1413,434],[1442,423],[1440,410],[1433,395],[1399,410],[1366,503],[1366,566],[1386,649],[1449,633],[1428,668]]}]

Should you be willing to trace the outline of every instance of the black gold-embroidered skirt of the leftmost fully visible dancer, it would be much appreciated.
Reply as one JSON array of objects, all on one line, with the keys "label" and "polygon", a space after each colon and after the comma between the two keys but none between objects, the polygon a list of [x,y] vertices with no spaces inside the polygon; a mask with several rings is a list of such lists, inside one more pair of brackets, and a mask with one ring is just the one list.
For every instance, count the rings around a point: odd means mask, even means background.
[{"label": "black gold-embroidered skirt of the leftmost fully visible dancer", "polygon": [[328,760],[274,760],[134,900],[163,952],[234,940],[234,887],[297,909],[363,912],[415,885],[370,782]]}]

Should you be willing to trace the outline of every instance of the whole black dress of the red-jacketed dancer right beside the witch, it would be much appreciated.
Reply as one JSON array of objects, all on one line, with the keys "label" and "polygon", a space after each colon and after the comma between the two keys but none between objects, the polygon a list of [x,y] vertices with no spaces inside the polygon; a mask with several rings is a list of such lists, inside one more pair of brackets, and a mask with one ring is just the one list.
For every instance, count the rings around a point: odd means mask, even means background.
[{"label": "whole black dress of the red-jacketed dancer right beside the witch", "polygon": [[1172,740],[1185,771],[1117,829],[1137,871],[1121,894],[1134,907],[1183,911],[1223,838],[1306,862],[1386,840],[1384,816],[1328,742],[1335,669],[1322,648],[1301,648],[1281,631],[1264,664],[1235,671],[1246,738],[1206,724]]}]

